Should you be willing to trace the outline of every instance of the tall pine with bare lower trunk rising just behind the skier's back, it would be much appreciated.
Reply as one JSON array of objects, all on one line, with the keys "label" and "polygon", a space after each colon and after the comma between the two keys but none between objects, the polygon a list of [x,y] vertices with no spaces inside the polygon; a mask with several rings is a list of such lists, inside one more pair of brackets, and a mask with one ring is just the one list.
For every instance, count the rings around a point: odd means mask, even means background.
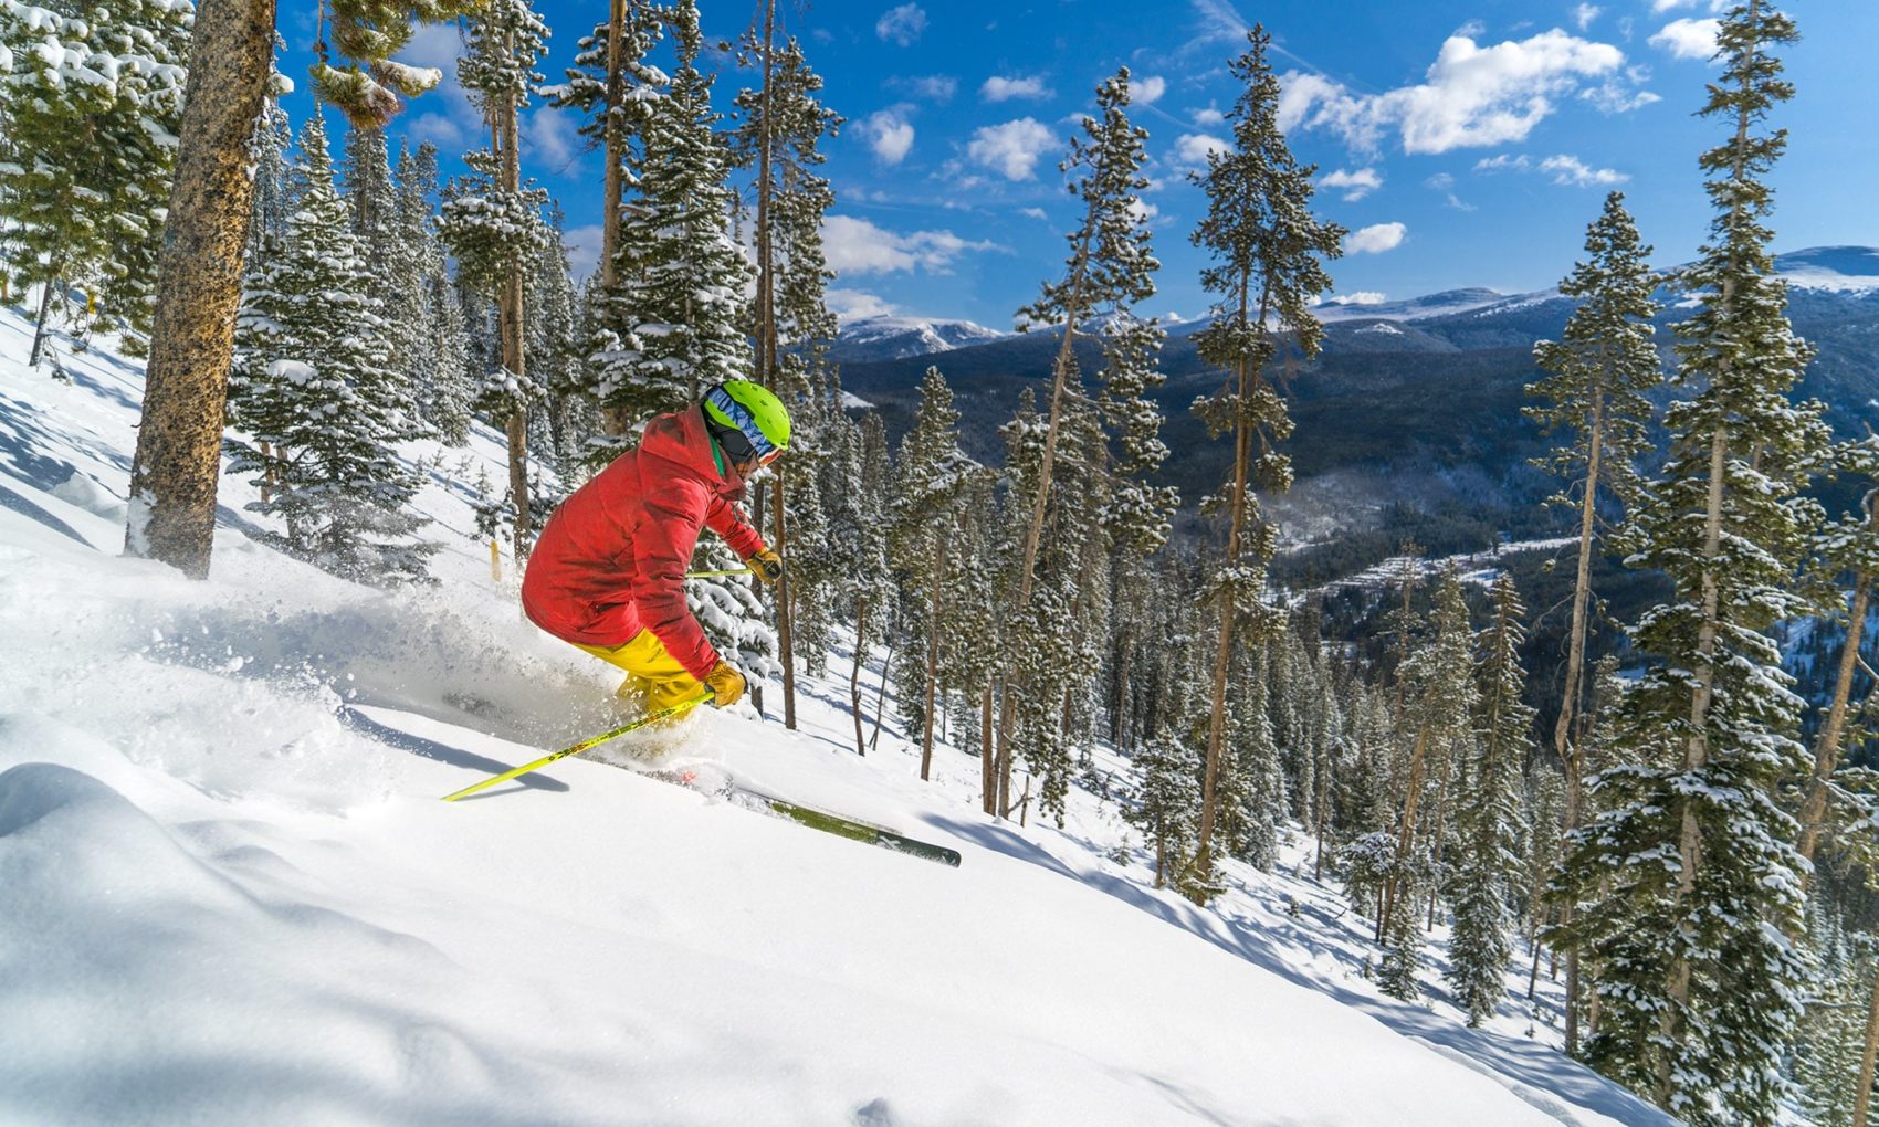
[{"label": "tall pine with bare lower trunk rising just behind the skier's back", "polygon": [[528,409],[539,389],[528,379],[524,286],[551,240],[541,222],[547,193],[522,184],[520,111],[541,75],[549,28],[528,0],[489,0],[470,21],[470,51],[457,77],[490,128],[490,147],[464,154],[468,177],[443,192],[438,233],[457,257],[457,280],[496,301],[500,366],[485,378],[483,402],[500,404],[509,436],[509,500],[515,558],[528,554]]}]

